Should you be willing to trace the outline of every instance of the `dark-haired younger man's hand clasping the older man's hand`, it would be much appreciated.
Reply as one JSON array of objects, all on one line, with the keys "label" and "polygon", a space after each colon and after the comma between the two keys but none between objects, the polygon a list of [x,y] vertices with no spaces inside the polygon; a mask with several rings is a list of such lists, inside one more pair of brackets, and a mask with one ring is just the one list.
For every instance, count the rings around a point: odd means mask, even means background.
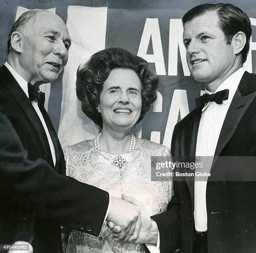
[{"label": "dark-haired younger man's hand clasping the older man's hand", "polygon": [[158,228],[156,223],[151,220],[145,207],[133,197],[128,197],[125,194],[122,195],[122,199],[136,205],[141,210],[141,230],[139,234],[134,233],[132,236],[126,235],[125,238],[120,237],[121,228],[114,223],[108,223],[109,228],[113,232],[113,240],[123,241],[127,243],[157,243]]}]

